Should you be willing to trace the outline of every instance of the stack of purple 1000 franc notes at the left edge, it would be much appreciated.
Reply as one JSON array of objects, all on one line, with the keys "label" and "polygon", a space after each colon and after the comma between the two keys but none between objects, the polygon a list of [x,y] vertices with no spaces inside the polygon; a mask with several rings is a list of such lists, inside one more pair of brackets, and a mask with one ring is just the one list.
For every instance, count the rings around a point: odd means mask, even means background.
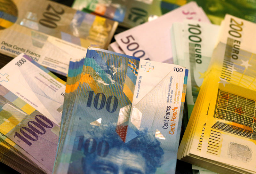
[{"label": "stack of purple 1000 franc notes at the left edge", "polygon": [[0,69],[1,162],[20,173],[52,173],[65,84],[24,54]]}]

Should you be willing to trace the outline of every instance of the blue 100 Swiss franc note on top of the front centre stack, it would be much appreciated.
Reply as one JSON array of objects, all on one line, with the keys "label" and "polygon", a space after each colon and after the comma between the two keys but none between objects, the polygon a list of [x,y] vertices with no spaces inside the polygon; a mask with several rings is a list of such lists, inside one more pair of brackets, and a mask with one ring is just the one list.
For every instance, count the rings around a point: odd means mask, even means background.
[{"label": "blue 100 Swiss franc note on top of the front centre stack", "polygon": [[174,172],[187,71],[89,48],[54,173]]}]

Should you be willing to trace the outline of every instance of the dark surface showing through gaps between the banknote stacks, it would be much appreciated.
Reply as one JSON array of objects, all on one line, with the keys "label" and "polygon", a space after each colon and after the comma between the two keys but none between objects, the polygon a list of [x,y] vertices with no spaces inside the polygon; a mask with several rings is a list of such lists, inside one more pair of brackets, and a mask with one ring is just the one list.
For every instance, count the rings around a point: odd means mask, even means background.
[{"label": "dark surface showing through gaps between the banknote stacks", "polygon": [[[73,4],[74,0],[53,0],[55,2],[65,4],[67,6],[71,6]],[[125,28],[120,28],[118,27],[116,29],[116,34],[124,31]],[[114,41],[114,38],[112,39],[112,42]],[[6,56],[4,54],[0,53],[0,68],[4,67],[8,62],[10,62],[13,58]],[[66,77],[62,75],[55,74],[58,77],[60,77],[62,80],[66,81]],[[182,133],[181,133],[182,137]],[[20,174],[16,170],[13,170],[11,167],[5,165],[4,163],[0,162],[0,174]],[[192,169],[191,169],[191,164],[187,162],[183,162],[180,160],[177,160],[177,165],[176,165],[176,172],[175,174],[192,174]]]}]

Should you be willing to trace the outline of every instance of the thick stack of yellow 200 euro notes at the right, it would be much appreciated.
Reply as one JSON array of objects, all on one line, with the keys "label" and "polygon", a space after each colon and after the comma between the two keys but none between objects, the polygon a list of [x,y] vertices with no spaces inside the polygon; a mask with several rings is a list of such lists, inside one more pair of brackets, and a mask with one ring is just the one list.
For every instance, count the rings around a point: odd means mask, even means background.
[{"label": "thick stack of yellow 200 euro notes at the right", "polygon": [[[195,29],[199,25],[193,30],[187,27],[194,42],[199,39],[199,28]],[[255,23],[228,14],[222,21],[178,159],[218,173],[256,173],[255,29]],[[194,60],[198,44],[189,42]]]}]

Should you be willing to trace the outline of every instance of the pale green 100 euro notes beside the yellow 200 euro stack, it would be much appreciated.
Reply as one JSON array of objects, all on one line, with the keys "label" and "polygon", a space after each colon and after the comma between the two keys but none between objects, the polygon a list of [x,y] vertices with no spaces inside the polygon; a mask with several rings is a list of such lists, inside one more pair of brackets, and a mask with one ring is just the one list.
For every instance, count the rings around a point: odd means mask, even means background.
[{"label": "pale green 100 euro notes beside the yellow 200 euro stack", "polygon": [[173,23],[172,31],[175,38],[172,49],[176,49],[178,55],[173,56],[174,62],[189,69],[186,92],[189,118],[212,57],[219,26],[189,20]]}]

